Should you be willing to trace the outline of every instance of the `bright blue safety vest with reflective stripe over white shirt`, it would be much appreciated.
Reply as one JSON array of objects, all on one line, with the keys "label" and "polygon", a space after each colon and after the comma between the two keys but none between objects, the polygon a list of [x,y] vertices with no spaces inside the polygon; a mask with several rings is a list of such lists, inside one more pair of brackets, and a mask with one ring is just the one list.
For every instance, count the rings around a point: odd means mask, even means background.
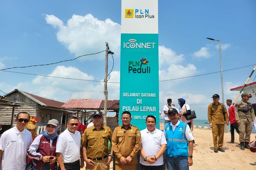
[{"label": "bright blue safety vest with reflective stripe over white shirt", "polygon": [[165,124],[167,149],[165,154],[169,157],[188,156],[188,141],[185,136],[187,124],[180,121],[180,124],[172,131],[171,122]]}]

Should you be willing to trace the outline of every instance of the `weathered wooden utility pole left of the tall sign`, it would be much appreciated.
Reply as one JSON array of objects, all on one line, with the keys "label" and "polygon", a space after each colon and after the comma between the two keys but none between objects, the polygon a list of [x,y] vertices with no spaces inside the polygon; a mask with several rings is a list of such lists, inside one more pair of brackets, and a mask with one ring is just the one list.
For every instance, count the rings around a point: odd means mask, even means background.
[{"label": "weathered wooden utility pole left of the tall sign", "polygon": [[103,112],[103,124],[106,126],[106,111],[108,106],[108,87],[107,87],[107,81],[108,81],[108,59],[109,59],[109,43],[106,42],[106,62],[105,62],[105,78],[104,78],[104,95],[105,95],[105,101],[104,101],[104,112]]}]

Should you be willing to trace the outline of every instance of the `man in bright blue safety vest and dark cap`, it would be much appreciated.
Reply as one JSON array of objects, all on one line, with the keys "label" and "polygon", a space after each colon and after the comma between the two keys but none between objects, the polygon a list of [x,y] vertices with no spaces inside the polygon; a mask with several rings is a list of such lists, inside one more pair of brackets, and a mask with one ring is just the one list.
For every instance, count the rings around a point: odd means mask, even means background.
[{"label": "man in bright blue safety vest and dark cap", "polygon": [[193,165],[193,140],[194,137],[188,124],[179,120],[176,108],[168,110],[171,122],[165,124],[163,133],[167,140],[165,162],[168,170],[188,170]]}]

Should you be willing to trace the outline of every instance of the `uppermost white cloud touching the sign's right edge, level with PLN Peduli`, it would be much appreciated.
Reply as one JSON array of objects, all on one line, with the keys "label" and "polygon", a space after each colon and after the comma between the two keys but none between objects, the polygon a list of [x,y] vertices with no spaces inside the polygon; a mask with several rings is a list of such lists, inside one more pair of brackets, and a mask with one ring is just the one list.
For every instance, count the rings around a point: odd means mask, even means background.
[{"label": "uppermost white cloud touching the sign's right edge, level with PLN Peduli", "polygon": [[175,51],[172,51],[172,49],[170,48],[166,48],[165,46],[159,46],[159,68],[161,68],[161,66],[163,64],[176,64],[176,63],[180,63],[183,60],[185,60],[184,55],[180,54],[180,55],[176,55]]}]

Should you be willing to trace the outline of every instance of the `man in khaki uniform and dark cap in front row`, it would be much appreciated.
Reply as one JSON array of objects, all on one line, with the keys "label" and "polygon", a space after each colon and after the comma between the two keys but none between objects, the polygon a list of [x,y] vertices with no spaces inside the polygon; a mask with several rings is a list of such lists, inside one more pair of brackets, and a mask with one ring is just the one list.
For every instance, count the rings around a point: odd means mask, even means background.
[{"label": "man in khaki uniform and dark cap in front row", "polygon": [[113,158],[113,150],[109,155],[108,142],[111,141],[112,131],[108,126],[102,125],[101,112],[93,114],[94,125],[84,131],[82,137],[83,157],[86,170],[109,170]]}]

